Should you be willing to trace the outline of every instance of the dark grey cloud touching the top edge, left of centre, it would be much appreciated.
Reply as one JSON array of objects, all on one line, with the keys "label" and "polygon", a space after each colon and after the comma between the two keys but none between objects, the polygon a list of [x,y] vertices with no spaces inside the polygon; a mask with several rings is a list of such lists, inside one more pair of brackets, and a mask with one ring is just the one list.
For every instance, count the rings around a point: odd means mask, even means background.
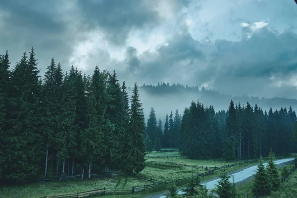
[{"label": "dark grey cloud touching the top edge, left of centre", "polygon": [[[178,9],[190,0],[172,0]],[[109,41],[123,45],[131,29],[160,25],[161,17],[155,9],[159,0],[80,0],[78,7],[85,16],[85,23],[92,29],[100,27]]]}]

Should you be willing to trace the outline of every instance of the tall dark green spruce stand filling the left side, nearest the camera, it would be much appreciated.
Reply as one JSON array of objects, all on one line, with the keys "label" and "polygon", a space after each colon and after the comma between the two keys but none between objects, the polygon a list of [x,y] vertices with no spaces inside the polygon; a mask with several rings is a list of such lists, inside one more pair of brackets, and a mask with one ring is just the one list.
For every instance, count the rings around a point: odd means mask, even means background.
[{"label": "tall dark green spruce stand filling the left side, nearest the camera", "polygon": [[145,120],[137,84],[129,101],[115,71],[96,66],[91,76],[74,67],[63,73],[52,58],[41,78],[37,61],[32,48],[9,70],[8,52],[0,55],[0,183],[65,173],[88,172],[90,178],[94,167],[143,170]]}]

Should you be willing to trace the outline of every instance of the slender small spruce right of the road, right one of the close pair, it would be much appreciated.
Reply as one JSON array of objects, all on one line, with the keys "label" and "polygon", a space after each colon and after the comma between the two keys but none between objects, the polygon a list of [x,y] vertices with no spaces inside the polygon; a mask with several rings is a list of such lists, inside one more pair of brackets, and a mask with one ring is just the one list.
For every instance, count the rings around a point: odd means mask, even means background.
[{"label": "slender small spruce right of the road, right one of the close pair", "polygon": [[267,165],[267,173],[269,175],[269,180],[272,185],[272,190],[276,191],[276,190],[278,190],[278,188],[280,186],[281,179],[278,174],[276,164],[274,162],[275,155],[274,155],[274,152],[272,152],[272,149],[270,149],[268,159],[269,159],[269,161],[268,161],[268,165]]}]

